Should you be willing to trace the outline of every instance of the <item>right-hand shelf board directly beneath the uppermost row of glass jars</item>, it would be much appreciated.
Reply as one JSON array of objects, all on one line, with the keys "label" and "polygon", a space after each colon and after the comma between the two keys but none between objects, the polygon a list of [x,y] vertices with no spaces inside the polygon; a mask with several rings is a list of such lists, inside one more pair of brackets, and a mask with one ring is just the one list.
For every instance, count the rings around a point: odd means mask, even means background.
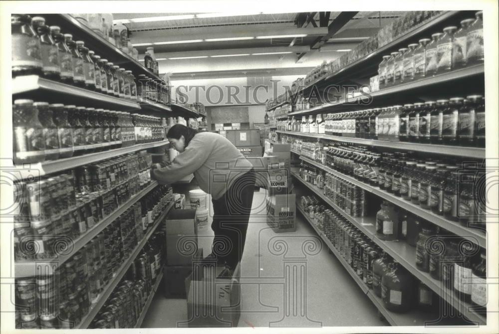
[{"label": "right-hand shelf board directly beneath the uppermost row of glass jars", "polygon": [[454,70],[448,73],[438,74],[428,78],[414,80],[393,87],[384,88],[376,92],[365,93],[363,95],[359,94],[358,96],[355,97],[350,97],[347,99],[343,98],[339,99],[338,101],[324,103],[310,109],[295,111],[289,113],[288,115],[294,116],[294,115],[314,114],[320,112],[332,112],[333,111],[332,107],[340,107],[340,106],[348,107],[349,109],[359,109],[359,108],[367,109],[366,104],[360,104],[358,102],[370,101],[371,99],[375,99],[375,102],[377,102],[377,104],[379,104],[378,102],[383,102],[385,100],[387,101],[387,103],[389,103],[390,99],[400,96],[400,94],[404,92],[429,89],[437,85],[448,83],[450,81],[469,79],[472,76],[483,75],[484,73],[485,69],[483,64],[475,65],[467,68]]}]

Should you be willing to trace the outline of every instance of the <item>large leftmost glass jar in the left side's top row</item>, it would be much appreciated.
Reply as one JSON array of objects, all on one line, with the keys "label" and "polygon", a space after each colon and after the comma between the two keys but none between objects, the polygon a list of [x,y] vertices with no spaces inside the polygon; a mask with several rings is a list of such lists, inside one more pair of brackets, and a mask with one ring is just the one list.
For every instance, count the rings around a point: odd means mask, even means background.
[{"label": "large leftmost glass jar in the left side's top row", "polygon": [[12,37],[12,77],[18,75],[41,75],[40,38],[30,25],[31,17],[24,14],[10,15]]}]

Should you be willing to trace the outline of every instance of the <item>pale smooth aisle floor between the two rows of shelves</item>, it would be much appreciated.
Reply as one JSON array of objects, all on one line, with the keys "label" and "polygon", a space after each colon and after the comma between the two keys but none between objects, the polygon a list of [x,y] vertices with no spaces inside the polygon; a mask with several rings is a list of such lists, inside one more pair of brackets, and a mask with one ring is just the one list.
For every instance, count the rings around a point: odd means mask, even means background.
[{"label": "pale smooth aisle floor between the two rows of shelves", "polygon": [[[303,312],[306,316],[297,317],[289,324],[281,322],[285,312],[284,298],[287,295],[284,292],[283,256],[303,257],[302,247],[308,249],[309,253],[314,253],[313,245],[307,244],[306,240],[317,235],[299,215],[296,232],[274,233],[265,223],[264,200],[262,193],[255,192],[241,264],[242,281],[246,280],[248,283],[242,283],[241,286],[242,314],[239,327],[385,326],[386,323],[378,318],[374,305],[334,255],[329,254],[324,244],[316,255],[292,260],[295,263],[301,261],[300,265],[306,267],[305,283],[298,285],[306,288],[303,297],[306,302],[303,303],[306,305]],[[204,247],[207,255],[211,245],[211,229],[207,227],[201,230],[200,236],[200,246]],[[282,251],[286,246],[287,253],[284,255]],[[292,315],[293,310],[290,311]],[[295,312],[300,314],[300,306]],[[159,289],[142,327],[177,327],[177,322],[185,321],[186,318],[186,300],[165,299]]]}]

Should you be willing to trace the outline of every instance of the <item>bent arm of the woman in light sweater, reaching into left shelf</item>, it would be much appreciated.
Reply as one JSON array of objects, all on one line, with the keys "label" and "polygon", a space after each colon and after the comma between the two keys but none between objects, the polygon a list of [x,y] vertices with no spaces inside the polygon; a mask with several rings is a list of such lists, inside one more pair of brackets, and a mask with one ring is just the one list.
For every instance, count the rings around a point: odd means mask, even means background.
[{"label": "bent arm of the woman in light sweater, reaching into left shelf", "polygon": [[180,153],[169,166],[151,169],[151,178],[164,184],[176,182],[192,174],[203,166],[210,156],[212,150],[208,146],[208,143],[193,138],[185,151]]}]

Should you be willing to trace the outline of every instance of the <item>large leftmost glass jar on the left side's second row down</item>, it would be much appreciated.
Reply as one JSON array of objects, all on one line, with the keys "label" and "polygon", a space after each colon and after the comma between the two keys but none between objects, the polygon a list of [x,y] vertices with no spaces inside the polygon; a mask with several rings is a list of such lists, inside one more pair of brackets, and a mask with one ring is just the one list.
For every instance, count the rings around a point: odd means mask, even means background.
[{"label": "large leftmost glass jar on the left side's second row down", "polygon": [[15,100],[12,106],[14,164],[36,164],[45,160],[43,127],[33,100]]}]

